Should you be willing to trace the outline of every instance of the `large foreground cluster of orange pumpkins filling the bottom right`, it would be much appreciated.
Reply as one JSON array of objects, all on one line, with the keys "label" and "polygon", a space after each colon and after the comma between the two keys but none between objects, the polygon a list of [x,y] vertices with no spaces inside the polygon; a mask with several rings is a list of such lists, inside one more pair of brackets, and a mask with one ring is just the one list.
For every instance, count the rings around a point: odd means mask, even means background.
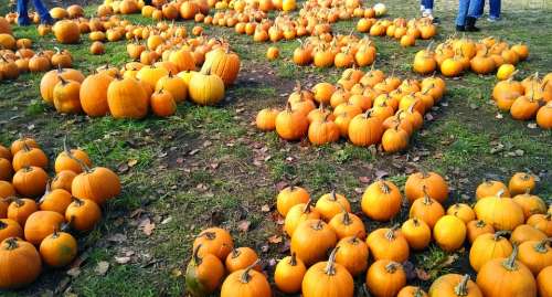
[{"label": "large foreground cluster of orange pumpkins filling the bottom right", "polygon": [[[375,297],[550,297],[552,208],[546,210],[539,197],[530,194],[534,185],[534,177],[521,172],[508,187],[485,181],[476,190],[474,209],[457,203],[445,212],[446,181],[434,172],[413,173],[405,184],[412,203],[410,219],[402,226],[369,234],[343,195],[332,191],[314,204],[305,189],[286,188],[276,204],[290,236],[290,256],[276,265],[275,286],[304,297],[347,297],[354,294],[353,277],[365,273],[365,286]],[[401,204],[399,188],[384,180],[370,184],[361,200],[363,213],[376,221],[391,220]],[[513,221],[516,224],[505,225]],[[513,230],[509,240],[506,230]],[[467,238],[477,282],[469,275],[445,274],[433,282],[428,293],[407,286],[401,263],[408,259],[411,248],[425,250],[432,237],[447,252],[460,248]],[[227,231],[209,227],[197,236],[192,248],[185,274],[187,291],[192,296],[206,296],[219,288],[223,297],[272,296],[257,253],[234,247]]]}]

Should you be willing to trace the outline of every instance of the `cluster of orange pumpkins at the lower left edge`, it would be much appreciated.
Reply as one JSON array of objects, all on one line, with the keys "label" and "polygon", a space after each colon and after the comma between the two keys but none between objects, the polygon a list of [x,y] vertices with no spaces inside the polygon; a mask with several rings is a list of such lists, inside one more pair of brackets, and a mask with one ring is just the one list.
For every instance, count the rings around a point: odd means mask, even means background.
[{"label": "cluster of orange pumpkins at the lower left edge", "polygon": [[93,167],[84,150],[65,142],[51,182],[47,167],[47,156],[33,138],[0,146],[0,289],[33,283],[42,263],[71,264],[78,246],[70,231],[93,230],[102,220],[100,206],[120,193],[115,172]]}]

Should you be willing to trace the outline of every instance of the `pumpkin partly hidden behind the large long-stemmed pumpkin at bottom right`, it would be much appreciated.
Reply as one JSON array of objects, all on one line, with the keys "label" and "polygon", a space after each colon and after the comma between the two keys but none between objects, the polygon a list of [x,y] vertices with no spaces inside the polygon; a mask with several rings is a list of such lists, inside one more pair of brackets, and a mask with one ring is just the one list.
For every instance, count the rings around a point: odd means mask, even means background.
[{"label": "pumpkin partly hidden behind the large long-stemmed pumpkin at bottom right", "polygon": [[512,253],[513,247],[505,234],[499,231],[495,234],[482,234],[475,240],[469,250],[469,263],[474,271],[479,272],[487,262],[508,257]]}]

